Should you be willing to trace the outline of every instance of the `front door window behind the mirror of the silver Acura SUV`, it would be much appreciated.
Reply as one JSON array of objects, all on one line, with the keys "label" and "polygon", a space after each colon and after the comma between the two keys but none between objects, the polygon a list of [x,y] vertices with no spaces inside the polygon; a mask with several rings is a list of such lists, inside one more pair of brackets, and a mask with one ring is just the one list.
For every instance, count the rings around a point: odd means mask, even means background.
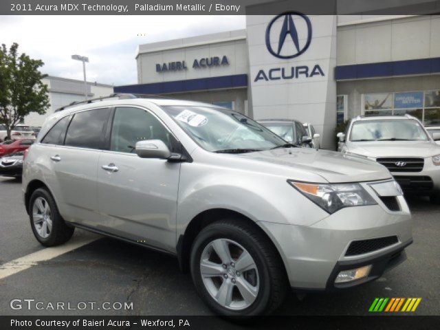
[{"label": "front door window behind the mirror of the silver Acura SUV", "polygon": [[173,135],[154,115],[139,108],[116,108],[111,130],[111,150],[134,153],[136,142],[142,140],[162,140],[173,151]]}]

